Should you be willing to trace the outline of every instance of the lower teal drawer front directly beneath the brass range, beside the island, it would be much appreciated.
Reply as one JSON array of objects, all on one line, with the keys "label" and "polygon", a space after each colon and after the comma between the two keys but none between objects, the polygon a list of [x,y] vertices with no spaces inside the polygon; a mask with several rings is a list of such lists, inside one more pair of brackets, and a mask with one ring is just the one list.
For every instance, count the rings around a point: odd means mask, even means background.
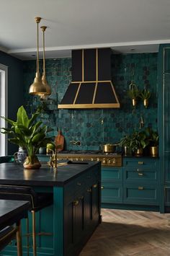
[{"label": "lower teal drawer front directly beneath the brass range, beside the island", "polygon": [[122,203],[122,185],[102,183],[102,203]]}]

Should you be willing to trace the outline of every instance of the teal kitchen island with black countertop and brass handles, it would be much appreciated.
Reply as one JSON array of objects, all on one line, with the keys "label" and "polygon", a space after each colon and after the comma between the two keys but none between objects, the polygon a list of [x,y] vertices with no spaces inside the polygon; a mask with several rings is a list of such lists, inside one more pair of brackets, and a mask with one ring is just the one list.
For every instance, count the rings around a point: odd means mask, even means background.
[{"label": "teal kitchen island with black countertop and brass handles", "polygon": [[[40,169],[30,170],[19,164],[3,163],[0,164],[0,184],[31,186],[37,192],[53,193],[53,206],[36,215],[36,232],[46,233],[37,236],[38,256],[79,255],[100,223],[99,162],[61,162],[57,171],[45,164]],[[25,235],[25,221],[22,222]],[[31,242],[32,239],[30,248]],[[23,255],[26,254],[25,238]],[[6,247],[0,255],[17,255],[16,245]]]}]

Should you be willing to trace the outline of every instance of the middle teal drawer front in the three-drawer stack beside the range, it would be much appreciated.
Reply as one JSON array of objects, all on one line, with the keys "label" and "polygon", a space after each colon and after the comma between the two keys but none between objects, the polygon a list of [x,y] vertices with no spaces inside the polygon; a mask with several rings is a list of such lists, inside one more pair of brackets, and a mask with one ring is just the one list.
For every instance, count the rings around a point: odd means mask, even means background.
[{"label": "middle teal drawer front in the three-drawer stack beside the range", "polygon": [[125,182],[153,182],[158,180],[156,169],[131,168],[123,170]]}]

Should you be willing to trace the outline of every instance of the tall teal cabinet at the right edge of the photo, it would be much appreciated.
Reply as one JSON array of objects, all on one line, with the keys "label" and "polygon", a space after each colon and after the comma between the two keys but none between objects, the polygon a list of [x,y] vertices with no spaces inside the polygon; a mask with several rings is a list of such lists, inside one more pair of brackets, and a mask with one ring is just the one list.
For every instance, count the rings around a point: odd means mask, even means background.
[{"label": "tall teal cabinet at the right edge of the photo", "polygon": [[170,45],[160,45],[158,53],[158,133],[161,212],[170,212]]}]

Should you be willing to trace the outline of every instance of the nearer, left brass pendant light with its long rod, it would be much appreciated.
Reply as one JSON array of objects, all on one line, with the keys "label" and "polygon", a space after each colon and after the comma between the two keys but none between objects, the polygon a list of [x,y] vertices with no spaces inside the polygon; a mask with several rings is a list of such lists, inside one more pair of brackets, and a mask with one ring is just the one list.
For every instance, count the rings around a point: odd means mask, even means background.
[{"label": "nearer, left brass pendant light with its long rod", "polygon": [[37,71],[35,74],[35,79],[33,84],[30,85],[29,93],[33,95],[47,95],[47,89],[45,84],[42,83],[42,79],[40,77],[39,72],[39,37],[38,37],[38,25],[40,23],[41,18],[35,17],[35,21],[37,22]]}]

